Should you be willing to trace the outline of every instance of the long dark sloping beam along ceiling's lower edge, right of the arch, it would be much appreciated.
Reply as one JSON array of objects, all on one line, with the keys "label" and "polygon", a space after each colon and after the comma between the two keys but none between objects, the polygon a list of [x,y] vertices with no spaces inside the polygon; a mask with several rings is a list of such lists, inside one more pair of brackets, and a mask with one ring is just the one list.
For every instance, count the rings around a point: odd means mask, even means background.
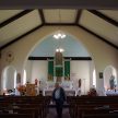
[{"label": "long dark sloping beam along ceiling's lower edge, right of the arch", "polygon": [[90,34],[92,34],[92,35],[94,35],[94,36],[96,36],[98,39],[105,42],[106,44],[110,45],[111,47],[118,49],[118,46],[114,45],[113,43],[108,42],[107,39],[103,38],[102,36],[95,34],[94,32],[87,30],[86,27],[84,27],[84,26],[82,26],[82,25],[80,25],[80,24],[79,24],[78,26],[81,27],[82,30],[86,31],[87,33],[90,33]]}]

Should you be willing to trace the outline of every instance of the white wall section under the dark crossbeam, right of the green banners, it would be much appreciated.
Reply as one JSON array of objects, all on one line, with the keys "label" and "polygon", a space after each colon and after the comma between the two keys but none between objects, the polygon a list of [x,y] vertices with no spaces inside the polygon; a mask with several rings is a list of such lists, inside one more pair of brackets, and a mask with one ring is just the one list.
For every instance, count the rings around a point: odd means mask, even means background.
[{"label": "white wall section under the dark crossbeam, right of the green banners", "polygon": [[71,61],[71,78],[73,80],[74,87],[78,87],[79,79],[82,79],[81,88],[84,94],[90,88],[90,62],[91,61]]}]

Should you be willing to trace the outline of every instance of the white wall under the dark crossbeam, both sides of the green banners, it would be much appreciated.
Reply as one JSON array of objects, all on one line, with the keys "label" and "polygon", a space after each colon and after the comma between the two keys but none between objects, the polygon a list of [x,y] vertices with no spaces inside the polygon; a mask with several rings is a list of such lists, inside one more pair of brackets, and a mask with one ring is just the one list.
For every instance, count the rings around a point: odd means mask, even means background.
[{"label": "white wall under the dark crossbeam, both sides of the green banners", "polygon": [[[31,62],[28,62],[27,64],[32,63],[31,69],[28,68],[28,70],[32,70],[32,75],[31,75],[31,82],[34,83],[35,79],[38,79],[42,81],[42,87],[46,87],[46,81],[47,81],[47,71],[48,71],[48,61],[46,60],[28,60]],[[88,91],[90,88],[90,63],[91,61],[74,61],[71,60],[70,62],[70,74],[71,74],[71,81],[73,81],[74,83],[74,87],[78,88],[78,80],[82,79],[82,92],[84,93],[84,88],[85,88],[85,93]],[[30,66],[27,66],[30,67]],[[28,71],[26,70],[27,75],[31,74],[28,73]],[[84,81],[85,79],[85,81]],[[85,83],[84,83],[85,82]]]}]

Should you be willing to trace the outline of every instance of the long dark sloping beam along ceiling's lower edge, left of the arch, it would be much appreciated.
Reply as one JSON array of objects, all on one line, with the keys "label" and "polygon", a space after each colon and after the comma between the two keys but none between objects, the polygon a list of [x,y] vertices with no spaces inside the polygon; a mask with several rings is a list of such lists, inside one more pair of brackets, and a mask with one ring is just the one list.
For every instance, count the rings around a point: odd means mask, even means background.
[{"label": "long dark sloping beam along ceiling's lower edge, left of the arch", "polygon": [[23,37],[25,37],[25,36],[30,35],[31,33],[35,32],[36,30],[39,30],[42,26],[43,26],[43,25],[38,25],[37,27],[35,27],[35,28],[28,31],[27,33],[25,33],[25,34],[23,34],[23,35],[21,35],[21,36],[19,36],[17,38],[12,39],[10,43],[8,43],[8,44],[3,45],[2,47],[0,47],[0,50],[1,50],[1,49],[4,49],[5,47],[8,47],[8,46],[10,46],[10,45],[12,45],[12,44],[14,44],[14,43],[16,43],[17,40],[22,39]]}]

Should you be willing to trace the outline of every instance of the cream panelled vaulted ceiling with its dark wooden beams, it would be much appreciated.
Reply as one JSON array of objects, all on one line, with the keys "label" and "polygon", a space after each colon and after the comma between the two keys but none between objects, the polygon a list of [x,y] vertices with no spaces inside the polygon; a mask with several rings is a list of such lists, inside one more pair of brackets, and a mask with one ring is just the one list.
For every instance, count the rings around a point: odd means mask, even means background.
[{"label": "cream panelled vaulted ceiling with its dark wooden beams", "polygon": [[118,10],[78,9],[0,10],[0,49],[44,25],[75,25],[118,49]]}]

